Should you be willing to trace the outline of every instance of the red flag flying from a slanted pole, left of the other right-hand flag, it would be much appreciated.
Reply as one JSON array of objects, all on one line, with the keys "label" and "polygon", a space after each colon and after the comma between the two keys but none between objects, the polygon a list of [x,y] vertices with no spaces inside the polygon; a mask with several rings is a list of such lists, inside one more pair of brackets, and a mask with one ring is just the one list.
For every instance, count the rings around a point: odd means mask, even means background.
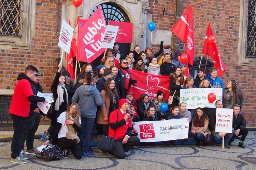
[{"label": "red flag flying from a slanted pole, left of the other right-hand flag", "polygon": [[186,45],[186,54],[188,63],[193,66],[193,58],[195,56],[194,46],[194,23],[193,23],[193,8],[190,5],[181,16],[181,18],[172,27],[171,32],[179,37]]}]

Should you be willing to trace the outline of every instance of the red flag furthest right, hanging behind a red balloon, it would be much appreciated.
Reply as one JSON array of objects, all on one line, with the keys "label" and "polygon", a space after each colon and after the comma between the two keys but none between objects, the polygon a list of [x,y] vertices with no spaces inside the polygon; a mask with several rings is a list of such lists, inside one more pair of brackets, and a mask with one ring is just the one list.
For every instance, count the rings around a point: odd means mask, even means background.
[{"label": "red flag furthest right, hanging behind a red balloon", "polygon": [[222,59],[221,59],[221,55],[219,54],[219,50],[217,47],[217,43],[216,41],[214,41],[214,44],[209,45],[207,43],[207,38],[208,36],[214,36],[212,33],[212,28],[211,28],[211,24],[208,24],[208,28],[207,28],[207,32],[205,35],[205,39],[204,39],[204,44],[203,44],[203,51],[202,54],[205,55],[210,55],[212,57],[213,63],[214,63],[214,67],[218,70],[218,76],[222,77],[222,75],[225,73],[225,71],[227,70]]}]

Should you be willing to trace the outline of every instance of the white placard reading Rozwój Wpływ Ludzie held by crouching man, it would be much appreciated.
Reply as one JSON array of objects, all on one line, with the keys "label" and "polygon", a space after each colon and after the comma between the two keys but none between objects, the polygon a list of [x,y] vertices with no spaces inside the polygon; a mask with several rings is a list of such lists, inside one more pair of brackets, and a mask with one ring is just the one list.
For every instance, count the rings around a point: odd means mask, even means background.
[{"label": "white placard reading Rozw\u00f3j Wp\u0142yw Ludzie held by crouching man", "polygon": [[233,109],[216,108],[215,132],[232,133]]}]

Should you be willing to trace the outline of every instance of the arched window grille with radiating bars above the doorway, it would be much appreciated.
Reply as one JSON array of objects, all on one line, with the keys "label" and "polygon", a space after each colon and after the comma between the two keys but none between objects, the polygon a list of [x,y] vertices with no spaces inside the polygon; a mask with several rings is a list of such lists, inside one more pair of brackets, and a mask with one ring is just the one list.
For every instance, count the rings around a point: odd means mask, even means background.
[{"label": "arched window grille with radiating bars above the doorway", "polygon": [[[101,7],[102,14],[105,18],[106,24],[111,21],[118,21],[118,22],[130,22],[128,15],[125,13],[122,8],[118,7],[117,5],[110,4],[110,3],[103,3],[99,5]],[[96,6],[94,10],[91,12],[90,16],[97,10],[99,6]]]}]

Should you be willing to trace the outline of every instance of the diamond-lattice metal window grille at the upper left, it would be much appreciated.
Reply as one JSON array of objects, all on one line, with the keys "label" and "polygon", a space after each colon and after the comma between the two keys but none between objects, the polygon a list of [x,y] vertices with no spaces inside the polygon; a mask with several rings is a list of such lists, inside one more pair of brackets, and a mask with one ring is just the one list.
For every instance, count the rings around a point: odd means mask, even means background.
[{"label": "diamond-lattice metal window grille at the upper left", "polygon": [[22,36],[23,0],[0,0],[0,36]]}]

